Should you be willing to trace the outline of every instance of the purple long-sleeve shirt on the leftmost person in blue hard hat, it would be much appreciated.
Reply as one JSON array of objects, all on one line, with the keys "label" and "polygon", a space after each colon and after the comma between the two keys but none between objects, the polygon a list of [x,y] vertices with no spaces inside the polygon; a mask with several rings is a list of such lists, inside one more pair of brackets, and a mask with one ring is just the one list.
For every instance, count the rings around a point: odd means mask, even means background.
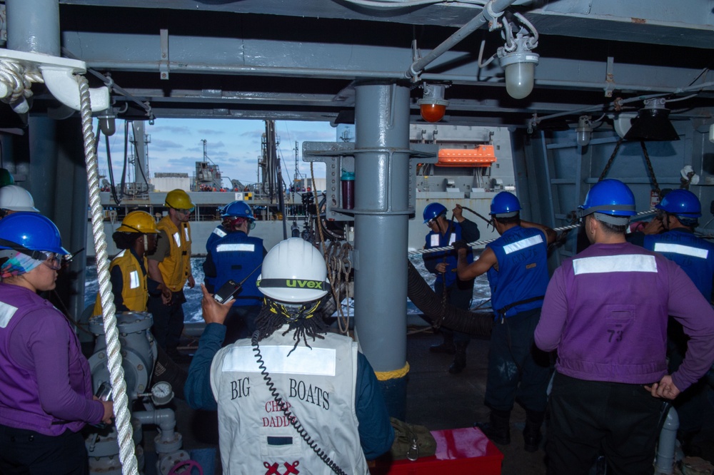
[{"label": "purple long-sleeve shirt on the leftmost person in blue hard hat", "polygon": [[31,290],[0,284],[0,424],[59,435],[96,424],[89,363],[64,315]]}]

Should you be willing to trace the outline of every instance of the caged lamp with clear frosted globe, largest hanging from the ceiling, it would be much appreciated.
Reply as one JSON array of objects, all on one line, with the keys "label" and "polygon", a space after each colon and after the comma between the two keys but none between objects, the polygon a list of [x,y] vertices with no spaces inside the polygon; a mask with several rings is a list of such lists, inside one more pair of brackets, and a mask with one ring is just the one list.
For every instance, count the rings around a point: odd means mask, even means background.
[{"label": "caged lamp with clear frosted globe, largest hanging from the ceiling", "polygon": [[533,48],[538,46],[538,37],[531,36],[521,27],[514,38],[513,26],[508,21],[503,21],[503,30],[506,44],[498,48],[496,54],[506,74],[506,91],[514,99],[523,99],[533,91],[533,76],[539,58]]}]

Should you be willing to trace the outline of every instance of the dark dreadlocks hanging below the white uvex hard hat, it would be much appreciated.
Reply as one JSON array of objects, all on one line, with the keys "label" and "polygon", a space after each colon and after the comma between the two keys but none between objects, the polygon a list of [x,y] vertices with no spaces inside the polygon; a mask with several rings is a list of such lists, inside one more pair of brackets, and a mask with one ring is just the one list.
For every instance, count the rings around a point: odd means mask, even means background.
[{"label": "dark dreadlocks hanging below the white uvex hard hat", "polygon": [[287,323],[288,330],[283,332],[283,336],[293,332],[293,339],[295,340],[295,345],[290,350],[290,353],[298,347],[301,339],[306,347],[311,348],[310,344],[308,344],[308,337],[313,341],[316,338],[324,339],[325,337],[323,337],[322,333],[328,331],[326,323],[315,315],[322,302],[323,299],[319,299],[300,306],[292,306],[266,298],[263,308],[261,308],[261,312],[258,313],[256,318],[256,330],[260,332],[258,341],[269,337]]}]

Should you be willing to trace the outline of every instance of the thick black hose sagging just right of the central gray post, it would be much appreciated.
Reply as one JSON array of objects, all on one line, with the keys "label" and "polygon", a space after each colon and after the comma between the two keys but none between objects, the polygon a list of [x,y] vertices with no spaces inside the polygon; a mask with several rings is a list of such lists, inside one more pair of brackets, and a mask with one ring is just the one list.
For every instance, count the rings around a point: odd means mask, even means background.
[{"label": "thick black hose sagging just right of the central gray post", "polygon": [[493,312],[471,312],[461,310],[446,303],[443,307],[441,297],[436,295],[426,283],[416,267],[407,261],[409,272],[407,277],[407,297],[424,314],[429,322],[436,322],[444,314],[442,327],[456,332],[468,333],[478,337],[490,337],[493,327]]}]

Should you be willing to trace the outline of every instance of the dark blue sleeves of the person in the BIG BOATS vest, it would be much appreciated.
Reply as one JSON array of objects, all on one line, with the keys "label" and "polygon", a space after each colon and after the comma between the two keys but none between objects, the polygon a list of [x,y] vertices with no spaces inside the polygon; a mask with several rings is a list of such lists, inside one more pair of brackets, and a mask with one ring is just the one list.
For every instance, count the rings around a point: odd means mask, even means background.
[{"label": "dark blue sleeves of the person in the BIG BOATS vest", "polygon": [[[225,337],[225,325],[209,323],[198,341],[198,350],[193,355],[186,385],[183,387],[186,402],[193,409],[218,409],[218,403],[211,391],[211,362],[221,349]],[[389,414],[374,370],[361,353],[357,354],[356,379],[355,407],[360,444],[366,459],[372,460],[391,448],[394,429],[389,422]]]}]

